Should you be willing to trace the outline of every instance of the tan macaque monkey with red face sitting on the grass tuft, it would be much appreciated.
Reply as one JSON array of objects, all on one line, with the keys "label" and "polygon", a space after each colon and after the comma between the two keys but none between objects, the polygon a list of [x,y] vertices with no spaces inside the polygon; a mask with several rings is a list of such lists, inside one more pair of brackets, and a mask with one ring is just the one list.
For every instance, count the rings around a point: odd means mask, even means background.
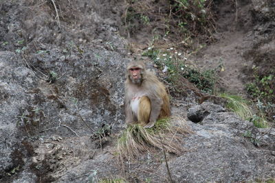
[{"label": "tan macaque monkey with red face sitting on the grass tuft", "polygon": [[130,62],[125,82],[126,123],[153,127],[157,119],[170,116],[170,103],[162,82],[142,62]]}]

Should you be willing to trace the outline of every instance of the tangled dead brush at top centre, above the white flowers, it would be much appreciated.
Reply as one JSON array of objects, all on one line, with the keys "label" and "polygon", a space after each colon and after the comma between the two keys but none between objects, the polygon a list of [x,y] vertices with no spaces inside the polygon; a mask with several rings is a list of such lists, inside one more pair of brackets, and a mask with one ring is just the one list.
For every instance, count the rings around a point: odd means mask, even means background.
[{"label": "tangled dead brush at top centre, above the white flowers", "polygon": [[[212,0],[128,0],[120,32],[135,44],[134,50],[144,49],[140,44],[155,40],[164,46],[171,40],[186,48],[196,42],[213,42],[212,34],[216,32],[213,7]],[[141,34],[145,38],[140,39]]]}]

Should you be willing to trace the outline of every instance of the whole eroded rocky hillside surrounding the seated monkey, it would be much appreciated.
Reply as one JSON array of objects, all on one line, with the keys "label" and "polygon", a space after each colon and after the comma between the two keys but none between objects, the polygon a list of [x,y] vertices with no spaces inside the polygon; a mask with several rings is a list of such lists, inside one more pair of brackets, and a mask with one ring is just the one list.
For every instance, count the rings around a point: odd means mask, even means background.
[{"label": "whole eroded rocky hillside surrounding the seated monkey", "polygon": [[[274,3],[213,1],[206,8],[213,13],[207,14],[210,24],[196,25],[206,28],[200,31],[188,24],[191,37],[184,37],[175,4],[1,1],[0,182],[169,182],[162,149],[118,161],[124,69],[131,60],[144,60],[157,73],[169,89],[173,115],[192,129],[179,134],[181,154],[166,153],[173,181],[274,180],[274,128],[254,127],[185,77],[173,83],[164,69],[177,68],[156,62],[168,49],[186,64],[219,68],[219,90],[247,95],[255,66],[266,77],[274,73]],[[272,90],[274,77],[267,85]]]}]

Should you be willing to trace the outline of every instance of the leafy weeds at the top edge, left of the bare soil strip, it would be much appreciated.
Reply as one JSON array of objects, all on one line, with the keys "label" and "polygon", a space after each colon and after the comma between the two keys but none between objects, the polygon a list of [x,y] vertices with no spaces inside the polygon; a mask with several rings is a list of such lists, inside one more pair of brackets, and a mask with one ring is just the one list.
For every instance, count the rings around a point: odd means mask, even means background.
[{"label": "leafy weeds at the top edge, left of the bare soil strip", "polygon": [[[173,34],[177,38],[202,38],[214,40],[215,31],[213,1],[170,0],[133,1],[126,0],[127,6],[122,16],[127,34],[156,32],[162,37]],[[173,32],[173,34],[170,34]],[[203,36],[199,36],[203,35]],[[129,35],[128,35],[129,36]]]}]

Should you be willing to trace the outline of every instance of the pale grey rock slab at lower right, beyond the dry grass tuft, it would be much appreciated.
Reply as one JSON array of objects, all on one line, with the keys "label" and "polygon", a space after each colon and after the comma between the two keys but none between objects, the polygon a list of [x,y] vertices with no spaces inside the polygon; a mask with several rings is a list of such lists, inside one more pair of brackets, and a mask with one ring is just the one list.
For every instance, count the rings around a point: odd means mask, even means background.
[{"label": "pale grey rock slab at lower right, beyond the dry grass tuft", "polygon": [[[208,115],[201,123],[189,123],[195,134],[184,139],[188,151],[168,163],[175,182],[241,182],[274,178],[275,149],[274,142],[271,143],[275,140],[274,129],[259,132],[252,123],[242,121],[212,103],[202,103],[189,110],[199,116],[206,111]],[[259,139],[259,147],[252,144],[255,139]],[[165,164],[160,171],[166,171]]]}]

